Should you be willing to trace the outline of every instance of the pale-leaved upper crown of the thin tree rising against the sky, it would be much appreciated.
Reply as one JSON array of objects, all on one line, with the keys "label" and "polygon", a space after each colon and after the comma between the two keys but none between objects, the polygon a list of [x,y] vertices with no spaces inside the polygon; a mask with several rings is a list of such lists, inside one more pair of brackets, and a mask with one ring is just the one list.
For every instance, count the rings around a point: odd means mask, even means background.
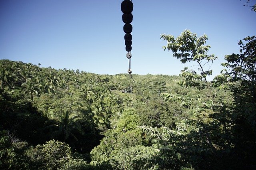
[{"label": "pale-leaved upper crown of the thin tree rising against the sky", "polygon": [[[204,34],[198,38],[196,34],[189,30],[184,30],[176,39],[174,39],[174,36],[166,34],[162,34],[161,38],[167,41],[167,45],[163,47],[164,50],[172,50],[173,56],[180,59],[182,63],[194,61],[196,66],[198,66],[197,70],[200,73],[185,67],[181,73],[182,77],[185,77],[185,81],[180,84],[200,89],[204,88],[204,83],[207,83],[206,77],[212,75],[212,70],[204,70],[203,67],[206,63],[217,59],[214,55],[207,54],[210,49],[210,45],[205,45],[206,40],[208,40],[207,36]],[[204,83],[202,84],[202,82]]]}]

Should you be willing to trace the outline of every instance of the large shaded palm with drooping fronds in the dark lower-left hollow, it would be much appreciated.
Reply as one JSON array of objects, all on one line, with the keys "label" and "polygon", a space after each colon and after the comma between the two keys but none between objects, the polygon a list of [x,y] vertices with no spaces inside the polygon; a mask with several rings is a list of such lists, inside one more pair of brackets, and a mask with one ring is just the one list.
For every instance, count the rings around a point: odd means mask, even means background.
[{"label": "large shaded palm with drooping fronds in the dark lower-left hollow", "polygon": [[53,137],[62,136],[65,142],[70,136],[78,141],[76,136],[73,134],[74,130],[78,130],[78,132],[82,133],[80,129],[78,120],[81,118],[74,112],[68,111],[67,108],[62,110],[62,114],[52,114],[50,120],[55,122],[54,125],[47,126],[45,128],[55,127],[58,128],[52,132]]}]

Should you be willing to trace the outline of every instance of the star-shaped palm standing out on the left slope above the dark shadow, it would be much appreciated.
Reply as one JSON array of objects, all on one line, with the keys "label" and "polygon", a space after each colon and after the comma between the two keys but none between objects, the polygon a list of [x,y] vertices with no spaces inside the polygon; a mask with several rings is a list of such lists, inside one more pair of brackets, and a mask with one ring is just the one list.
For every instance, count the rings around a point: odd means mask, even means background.
[{"label": "star-shaped palm standing out on the left slope above the dark shadow", "polygon": [[40,92],[40,88],[38,87],[38,84],[36,83],[36,79],[33,78],[27,78],[25,83],[22,83],[21,90],[25,94],[30,94],[31,100],[34,100],[34,95],[38,95],[38,92]]}]

